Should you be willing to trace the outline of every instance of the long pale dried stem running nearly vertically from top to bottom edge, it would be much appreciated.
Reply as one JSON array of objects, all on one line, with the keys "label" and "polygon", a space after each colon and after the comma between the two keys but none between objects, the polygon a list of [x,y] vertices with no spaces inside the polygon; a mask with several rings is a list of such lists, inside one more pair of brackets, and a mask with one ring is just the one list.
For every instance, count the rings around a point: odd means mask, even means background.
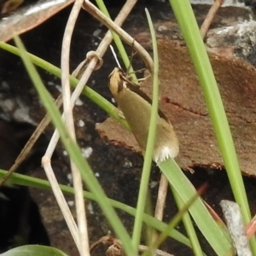
[{"label": "long pale dried stem running nearly vertically from top to bottom edge", "polygon": [[[67,131],[69,131],[69,134],[73,138],[74,142],[76,141],[76,135],[73,124],[73,106],[71,104],[71,90],[69,84],[69,56],[73,29],[83,2],[84,0],[76,0],[73,4],[73,9],[67,20],[67,26],[65,28],[61,49],[61,86],[63,96],[63,112],[65,123],[67,125]],[[73,160],[70,160],[70,166],[73,175],[75,207],[79,226],[79,253],[82,256],[90,256],[82,177],[79,169],[73,163]]]}]

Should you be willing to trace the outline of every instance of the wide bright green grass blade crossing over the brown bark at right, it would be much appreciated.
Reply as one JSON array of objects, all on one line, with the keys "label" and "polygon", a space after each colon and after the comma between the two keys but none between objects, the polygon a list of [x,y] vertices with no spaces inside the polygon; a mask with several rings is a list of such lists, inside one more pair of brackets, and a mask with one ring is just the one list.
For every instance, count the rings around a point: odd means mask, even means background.
[{"label": "wide bright green grass blade crossing over the brown bark at right", "polygon": [[[218,85],[212,72],[212,66],[207,56],[207,51],[201,39],[195,15],[189,0],[170,0],[173,12],[183,32],[183,37],[188,45],[189,53],[195,65],[201,89],[205,96],[209,115],[212,120],[212,127],[218,140],[218,147],[224,160],[230,185],[236,202],[241,207],[241,213],[245,223],[251,219],[247,201],[247,194],[241,177],[239,162],[236,156],[236,149],[230,132],[224,105],[218,91]],[[253,253],[256,255],[255,237],[251,240]]]}]

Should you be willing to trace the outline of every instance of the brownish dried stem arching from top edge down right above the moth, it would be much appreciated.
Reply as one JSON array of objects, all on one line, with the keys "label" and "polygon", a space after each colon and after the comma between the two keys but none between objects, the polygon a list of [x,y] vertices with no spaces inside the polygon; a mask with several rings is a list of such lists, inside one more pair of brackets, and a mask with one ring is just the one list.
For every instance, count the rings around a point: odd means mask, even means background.
[{"label": "brownish dried stem arching from top edge down right above the moth", "polygon": [[88,0],[84,0],[84,9],[86,9],[90,15],[94,16],[97,20],[101,21],[102,24],[108,26],[108,29],[111,29],[113,32],[116,32],[120,38],[122,38],[127,44],[133,46],[133,49],[142,57],[145,65],[148,67],[150,73],[153,73],[154,65],[152,58],[148,54],[147,50],[143,48],[141,44],[138,44],[127,32],[125,32],[117,23],[109,19],[104,15],[95,5],[90,3]]}]

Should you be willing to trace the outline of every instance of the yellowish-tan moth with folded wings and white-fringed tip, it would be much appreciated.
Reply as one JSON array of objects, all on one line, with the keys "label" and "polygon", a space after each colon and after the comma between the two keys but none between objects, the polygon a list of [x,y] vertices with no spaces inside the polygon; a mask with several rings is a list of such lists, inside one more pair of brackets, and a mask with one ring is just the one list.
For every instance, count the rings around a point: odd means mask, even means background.
[{"label": "yellowish-tan moth with folded wings and white-fringed tip", "polygon": [[[143,153],[146,150],[148,130],[151,115],[151,99],[125,77],[125,72],[115,67],[109,75],[109,89],[118,107],[124,114],[131,132],[137,140]],[[175,158],[179,151],[179,143],[172,124],[159,109],[153,159],[160,163],[169,158]]]}]

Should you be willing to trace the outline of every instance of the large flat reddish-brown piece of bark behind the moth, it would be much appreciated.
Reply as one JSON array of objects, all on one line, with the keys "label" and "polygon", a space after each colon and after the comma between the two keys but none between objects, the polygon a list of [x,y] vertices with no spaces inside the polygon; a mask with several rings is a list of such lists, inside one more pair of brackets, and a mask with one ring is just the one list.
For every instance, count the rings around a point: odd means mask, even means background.
[{"label": "large flat reddish-brown piece of bark behind the moth", "polygon": [[[183,169],[194,166],[223,166],[212,125],[187,49],[159,40],[160,108],[171,120],[180,142],[177,163]],[[230,61],[211,55],[211,62],[224,101],[241,171],[256,176],[256,70],[244,61]],[[142,89],[151,94],[150,81]],[[96,129],[115,144],[139,151],[131,133],[108,119]]]}]

